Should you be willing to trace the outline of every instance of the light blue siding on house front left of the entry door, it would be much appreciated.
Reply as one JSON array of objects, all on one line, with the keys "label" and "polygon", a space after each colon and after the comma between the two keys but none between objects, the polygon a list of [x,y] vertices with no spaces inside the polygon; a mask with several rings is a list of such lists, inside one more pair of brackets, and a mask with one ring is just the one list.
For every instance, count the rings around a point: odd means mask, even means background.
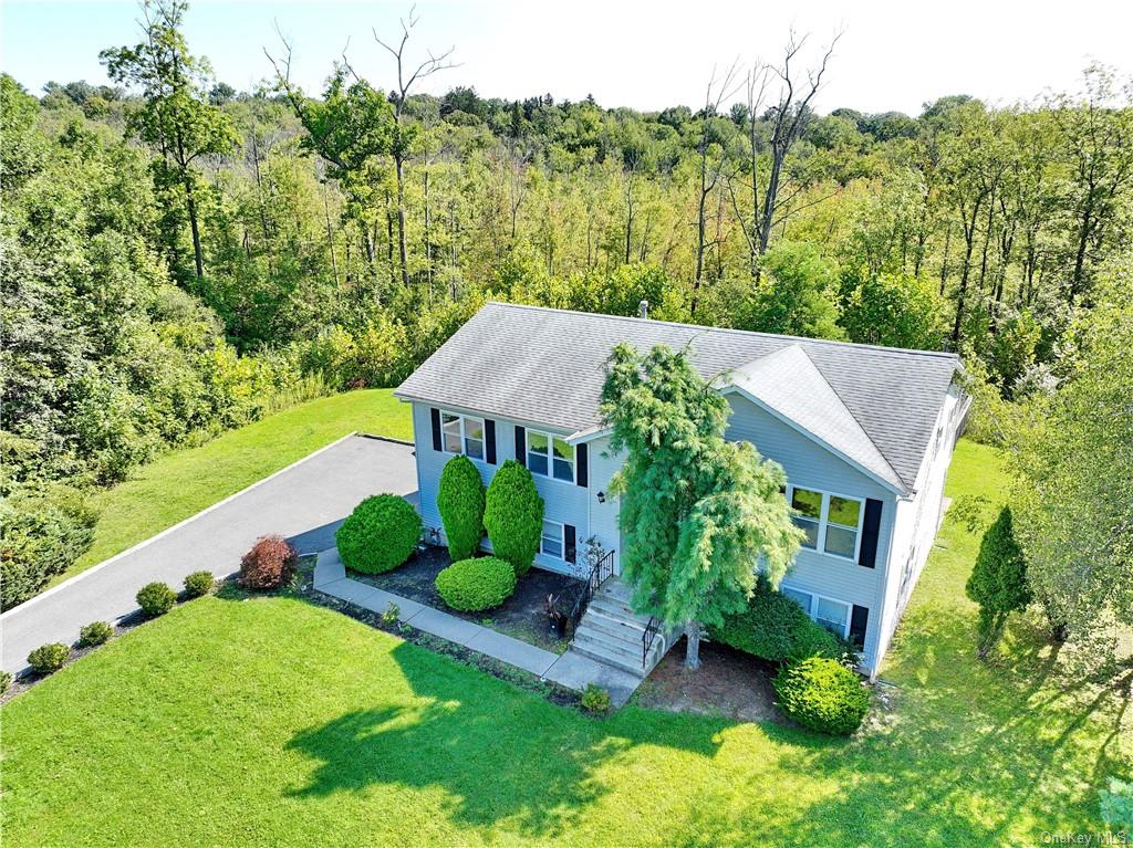
[{"label": "light blue siding on house front left of the entry door", "polygon": [[[436,491],[441,481],[441,472],[444,464],[452,459],[452,454],[433,449],[433,423],[429,419],[427,404],[414,403],[414,444],[417,452],[417,485],[420,491],[420,512],[428,528],[438,528],[443,532],[441,513],[436,508]],[[468,413],[478,418],[492,418],[484,416],[476,410],[463,410],[455,408],[437,408],[448,412]],[[480,472],[484,485],[492,482],[496,470],[506,460],[516,459],[516,422],[505,418],[493,418],[496,423],[496,464],[492,465],[484,460],[472,460],[472,464]],[[546,430],[546,428],[543,428]],[[554,430],[551,430],[554,432]],[[561,434],[569,435],[569,434]],[[539,474],[533,474],[535,488],[538,489],[543,498],[545,516],[550,521],[560,524],[572,524],[577,533],[577,547],[579,551],[589,536],[589,517],[587,496],[590,488],[583,488],[572,482],[548,479]],[[571,564],[562,559],[539,554],[535,557],[535,564],[556,572],[571,571]]]}]

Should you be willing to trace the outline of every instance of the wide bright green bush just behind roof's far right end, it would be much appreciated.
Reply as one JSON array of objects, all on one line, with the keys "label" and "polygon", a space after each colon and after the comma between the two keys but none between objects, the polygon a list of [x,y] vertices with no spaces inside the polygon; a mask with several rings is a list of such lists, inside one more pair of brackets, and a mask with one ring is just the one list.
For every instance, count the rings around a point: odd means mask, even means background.
[{"label": "wide bright green bush just behind roof's far right end", "polygon": [[847,275],[838,323],[851,342],[939,350],[944,301],[932,284],[910,274]]}]

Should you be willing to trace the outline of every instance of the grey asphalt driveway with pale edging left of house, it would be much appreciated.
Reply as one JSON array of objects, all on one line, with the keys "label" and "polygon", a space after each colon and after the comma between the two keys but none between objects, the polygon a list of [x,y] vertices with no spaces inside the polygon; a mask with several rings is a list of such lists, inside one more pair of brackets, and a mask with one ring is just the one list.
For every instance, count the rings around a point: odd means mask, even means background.
[{"label": "grey asphalt driveway with pale edging left of house", "polygon": [[324,550],[334,545],[334,530],[364,497],[383,491],[412,497],[416,489],[410,445],[347,437],[5,613],[3,669],[22,670],[28,652],[45,642],[70,644],[84,624],[129,615],[137,609],[135,593],[146,583],[160,580],[180,590],[190,572],[231,574],[253,542],[269,533],[290,538],[303,554]]}]

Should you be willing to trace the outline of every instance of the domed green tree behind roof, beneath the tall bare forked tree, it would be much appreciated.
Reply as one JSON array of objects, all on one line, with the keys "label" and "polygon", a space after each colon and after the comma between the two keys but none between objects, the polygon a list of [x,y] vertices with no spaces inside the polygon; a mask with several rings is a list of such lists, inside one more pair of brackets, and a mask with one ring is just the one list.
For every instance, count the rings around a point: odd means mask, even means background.
[{"label": "domed green tree behind roof, beneath the tall bare forked tree", "polygon": [[760,333],[840,339],[837,266],[806,242],[781,241],[760,259],[765,276],[743,306],[739,326]]}]

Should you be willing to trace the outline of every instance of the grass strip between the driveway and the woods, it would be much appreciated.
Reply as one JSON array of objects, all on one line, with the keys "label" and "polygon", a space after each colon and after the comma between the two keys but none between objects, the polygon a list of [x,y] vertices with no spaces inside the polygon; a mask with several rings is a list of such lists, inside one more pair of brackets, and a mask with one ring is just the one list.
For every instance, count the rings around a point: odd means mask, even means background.
[{"label": "grass strip between the driveway and the woods", "polygon": [[94,545],[66,580],[223,500],[351,430],[412,438],[408,404],[392,389],[322,397],[229,430],[201,447],[174,451],[95,498]]}]

